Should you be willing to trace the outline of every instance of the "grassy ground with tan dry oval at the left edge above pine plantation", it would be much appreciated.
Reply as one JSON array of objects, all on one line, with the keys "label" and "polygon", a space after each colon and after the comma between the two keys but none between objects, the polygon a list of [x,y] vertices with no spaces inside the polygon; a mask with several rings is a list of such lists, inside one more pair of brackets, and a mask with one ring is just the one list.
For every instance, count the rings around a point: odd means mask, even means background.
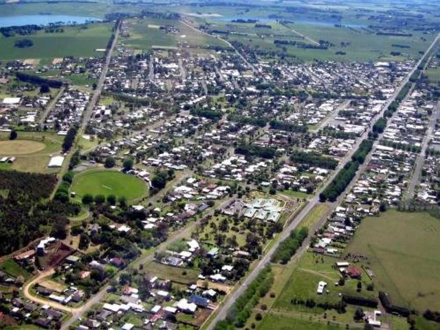
[{"label": "grassy ground with tan dry oval at the left edge above pine plantation", "polygon": [[0,156],[16,157],[12,164],[2,164],[2,169],[37,173],[59,171],[59,169],[49,169],[47,164],[50,155],[60,153],[64,136],[50,132],[18,131],[17,133],[17,139],[10,141],[8,132],[0,132]]}]

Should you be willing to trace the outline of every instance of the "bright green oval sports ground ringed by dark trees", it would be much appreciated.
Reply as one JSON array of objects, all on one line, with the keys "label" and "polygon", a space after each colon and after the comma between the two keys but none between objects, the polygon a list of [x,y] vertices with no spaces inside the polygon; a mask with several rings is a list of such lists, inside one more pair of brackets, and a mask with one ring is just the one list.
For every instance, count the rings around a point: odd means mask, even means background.
[{"label": "bright green oval sports ground ringed by dark trees", "polygon": [[124,196],[128,201],[147,193],[147,184],[141,179],[116,171],[90,170],[75,176],[71,191],[81,199],[86,194]]}]

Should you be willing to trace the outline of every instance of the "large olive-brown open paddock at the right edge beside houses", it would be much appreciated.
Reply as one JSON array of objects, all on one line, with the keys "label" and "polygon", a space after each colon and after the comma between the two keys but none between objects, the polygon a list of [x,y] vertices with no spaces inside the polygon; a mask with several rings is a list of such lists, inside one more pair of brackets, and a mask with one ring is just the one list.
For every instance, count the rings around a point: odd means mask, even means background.
[{"label": "large olive-brown open paddock at the right edge beside houses", "polygon": [[389,210],[365,218],[346,253],[362,253],[377,289],[395,304],[440,310],[440,219]]}]

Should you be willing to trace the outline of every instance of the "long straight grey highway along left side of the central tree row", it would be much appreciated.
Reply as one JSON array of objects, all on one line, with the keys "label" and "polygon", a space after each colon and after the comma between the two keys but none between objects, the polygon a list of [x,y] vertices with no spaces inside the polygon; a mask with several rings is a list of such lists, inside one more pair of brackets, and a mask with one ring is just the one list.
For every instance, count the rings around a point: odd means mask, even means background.
[{"label": "long straight grey highway along left side of the central tree row", "polygon": [[[431,46],[427,49],[427,51],[425,53],[429,53],[429,51],[431,50],[431,48],[433,47],[435,42],[437,42],[439,37],[440,37],[440,34],[437,35],[437,37],[434,39]],[[422,59],[423,59],[423,57],[422,57]],[[379,117],[383,116],[384,111],[388,108],[388,106],[391,104],[391,102],[393,102],[396,99],[397,95],[402,90],[402,88],[405,86],[406,82],[408,82],[411,74],[414,73],[414,71],[416,71],[416,69],[419,66],[419,64],[421,63],[422,59],[420,59],[420,61],[415,65],[415,67],[408,73],[406,78],[402,80],[401,85],[397,88],[397,90],[393,93],[393,95],[384,104],[382,111],[378,115],[376,115],[375,118],[371,121],[370,129],[366,130],[364,132],[364,134],[361,136],[361,138],[357,140],[357,142],[356,142],[355,146],[353,146],[352,150],[342,159],[338,168],[329,177],[329,179],[327,181],[328,183],[331,182],[335,178],[335,176],[342,169],[342,167],[351,159],[351,155],[355,152],[355,150],[357,150],[357,148],[359,147],[361,142],[368,136],[368,131],[371,130],[371,128],[372,128],[373,124],[376,122],[376,120]],[[378,141],[379,141],[379,139],[376,140],[376,143]],[[371,155],[371,153],[369,155]],[[356,173],[356,177],[359,177],[360,173],[362,173],[362,170],[364,169],[364,167],[366,166],[367,163],[368,163],[368,160],[366,159],[363,164],[363,167],[361,167],[362,169]],[[353,181],[350,183],[350,185],[347,188],[349,188],[352,184],[354,184],[355,179],[356,178],[353,179]],[[328,183],[325,186],[327,186]],[[237,290],[235,290],[229,297],[227,297],[227,299],[225,300],[225,302],[222,306],[219,306],[214,319],[207,326],[208,330],[213,330],[215,327],[215,324],[217,324],[217,322],[219,322],[227,317],[228,311],[232,307],[232,305],[234,304],[235,300],[238,299],[238,297],[244,292],[246,287],[249,284],[251,284],[251,282],[258,276],[261,269],[264,268],[267,264],[269,264],[270,258],[272,257],[274,252],[277,250],[280,243],[290,235],[290,232],[292,230],[294,230],[301,223],[301,221],[303,221],[303,219],[312,210],[312,208],[319,203],[319,194],[325,189],[325,186],[322,187],[322,189],[320,191],[318,191],[318,193],[309,201],[309,204],[307,204],[306,207],[303,210],[301,210],[298,213],[298,215],[295,217],[295,219],[285,228],[285,230],[281,233],[281,235],[277,239],[277,241],[272,245],[270,250],[259,261],[258,265],[250,272],[249,276],[243,280],[241,286]],[[348,190],[346,190],[346,191],[348,191]],[[343,194],[341,194],[341,195],[343,195]],[[339,198],[341,199],[342,196],[340,196]],[[335,204],[336,203],[334,203],[333,205],[335,206]],[[303,252],[305,250],[306,249],[303,248]],[[299,255],[300,254],[298,254],[298,256]]]}]

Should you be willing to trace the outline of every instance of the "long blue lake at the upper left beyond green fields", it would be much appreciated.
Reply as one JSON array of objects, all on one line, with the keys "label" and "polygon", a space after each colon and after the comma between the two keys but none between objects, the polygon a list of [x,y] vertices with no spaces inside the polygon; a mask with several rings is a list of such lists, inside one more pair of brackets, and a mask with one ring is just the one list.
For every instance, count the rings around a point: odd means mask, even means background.
[{"label": "long blue lake at the upper left beyond green fields", "polygon": [[100,18],[87,16],[70,16],[70,15],[19,15],[19,16],[0,16],[0,28],[7,26],[21,25],[48,25],[49,23],[77,24],[86,23],[87,21],[102,21]]}]

